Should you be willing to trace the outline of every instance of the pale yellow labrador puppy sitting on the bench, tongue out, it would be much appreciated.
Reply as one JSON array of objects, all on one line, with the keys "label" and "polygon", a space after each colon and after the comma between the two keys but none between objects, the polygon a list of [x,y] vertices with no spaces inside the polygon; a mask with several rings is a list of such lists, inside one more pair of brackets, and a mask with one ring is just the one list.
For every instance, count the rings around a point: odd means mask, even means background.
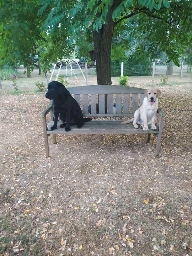
[{"label": "pale yellow labrador puppy sitting on the bench, tongue out", "polygon": [[151,129],[155,130],[155,119],[158,110],[158,97],[161,95],[161,91],[157,88],[151,87],[145,90],[145,98],[142,106],[135,111],[134,117],[130,120],[121,122],[121,124],[133,122],[134,128],[138,128],[138,124],[141,124],[143,130],[149,130],[148,124],[151,124]]}]

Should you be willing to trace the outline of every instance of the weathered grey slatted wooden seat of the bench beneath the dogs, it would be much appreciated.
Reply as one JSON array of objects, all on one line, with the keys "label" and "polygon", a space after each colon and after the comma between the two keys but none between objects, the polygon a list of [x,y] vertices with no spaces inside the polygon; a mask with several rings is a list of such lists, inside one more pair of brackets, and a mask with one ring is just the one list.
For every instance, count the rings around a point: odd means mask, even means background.
[{"label": "weathered grey slatted wooden seat of the bench beneath the dogs", "polygon": [[[159,131],[151,130],[149,125],[149,130],[144,131],[141,128],[135,129],[133,123],[130,124],[120,124],[123,120],[92,120],[90,122],[85,122],[82,128],[78,129],[76,126],[70,126],[70,132],[65,132],[64,128],[60,128],[59,125],[62,123],[58,121],[58,128],[53,131],[47,131],[47,134],[149,134],[149,133],[159,133]],[[53,122],[49,122],[48,129],[53,126]]]}]

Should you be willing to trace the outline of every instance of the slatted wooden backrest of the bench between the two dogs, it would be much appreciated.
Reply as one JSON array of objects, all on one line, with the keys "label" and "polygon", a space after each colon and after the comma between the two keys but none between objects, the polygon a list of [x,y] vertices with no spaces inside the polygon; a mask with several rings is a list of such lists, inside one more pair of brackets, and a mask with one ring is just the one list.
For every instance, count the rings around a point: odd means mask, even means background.
[{"label": "slatted wooden backrest of the bench between the two dogs", "polygon": [[[118,85],[86,85],[67,89],[79,103],[84,117],[133,116],[145,97],[145,89]],[[105,113],[106,94],[107,113]],[[114,103],[115,108],[113,108]],[[89,105],[91,105],[91,113],[89,113]]]}]

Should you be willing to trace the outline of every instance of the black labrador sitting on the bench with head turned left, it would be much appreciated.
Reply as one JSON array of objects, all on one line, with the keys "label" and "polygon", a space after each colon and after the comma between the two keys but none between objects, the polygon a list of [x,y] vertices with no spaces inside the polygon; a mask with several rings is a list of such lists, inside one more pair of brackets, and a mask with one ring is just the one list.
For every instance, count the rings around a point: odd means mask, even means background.
[{"label": "black labrador sitting on the bench with head turned left", "polygon": [[45,96],[49,100],[53,100],[55,115],[54,125],[51,127],[51,130],[57,129],[58,117],[63,122],[60,127],[65,127],[66,132],[71,130],[70,125],[77,125],[77,128],[81,128],[84,125],[84,122],[92,120],[91,118],[83,118],[79,104],[70,95],[63,84],[53,81],[48,84],[47,89],[48,92]]}]

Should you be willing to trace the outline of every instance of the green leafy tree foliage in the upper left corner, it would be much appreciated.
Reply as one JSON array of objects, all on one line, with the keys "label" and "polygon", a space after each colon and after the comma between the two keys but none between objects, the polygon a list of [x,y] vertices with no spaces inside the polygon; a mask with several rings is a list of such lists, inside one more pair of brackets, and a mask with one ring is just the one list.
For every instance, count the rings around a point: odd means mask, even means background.
[{"label": "green leafy tree foliage in the upper left corner", "polygon": [[41,24],[47,14],[38,16],[38,9],[38,0],[0,1],[0,64],[23,64],[28,77],[35,66],[33,59],[39,53],[39,44],[45,41]]}]

